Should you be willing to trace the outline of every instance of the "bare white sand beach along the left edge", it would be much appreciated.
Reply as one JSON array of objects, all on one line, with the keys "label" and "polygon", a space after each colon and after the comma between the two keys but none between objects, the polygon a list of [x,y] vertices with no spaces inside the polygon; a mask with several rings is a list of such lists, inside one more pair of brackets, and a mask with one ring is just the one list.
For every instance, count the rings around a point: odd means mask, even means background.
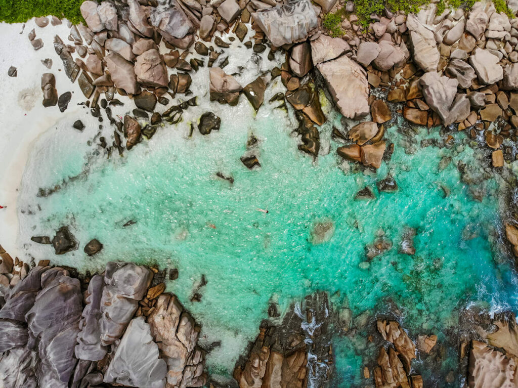
[{"label": "bare white sand beach along the left edge", "polygon": [[[44,47],[35,51],[27,35],[35,29],[36,38],[41,38]],[[19,255],[16,244],[18,234],[17,192],[27,160],[35,139],[52,127],[54,123],[83,110],[77,106],[84,96],[75,82],[72,84],[63,71],[63,63],[54,51],[54,35],[64,41],[69,28],[63,24],[44,28],[38,27],[34,20],[22,24],[0,23],[0,244],[11,255]],[[52,68],[41,63],[42,59],[52,59]],[[17,77],[9,77],[10,66],[18,69]],[[61,71],[59,71],[61,69]],[[61,113],[56,106],[45,108],[41,102],[41,75],[52,73],[56,78],[58,95],[73,92],[68,109]]]}]

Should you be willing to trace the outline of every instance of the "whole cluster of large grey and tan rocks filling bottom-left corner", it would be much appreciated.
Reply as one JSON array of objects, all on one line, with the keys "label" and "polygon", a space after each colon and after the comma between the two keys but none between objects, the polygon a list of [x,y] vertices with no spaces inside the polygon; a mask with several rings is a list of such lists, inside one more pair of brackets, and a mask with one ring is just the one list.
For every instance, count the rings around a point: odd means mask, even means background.
[{"label": "whole cluster of large grey and tan rocks filling bottom-left corner", "polygon": [[48,262],[28,270],[0,254],[0,270],[11,267],[10,281],[0,275],[6,387],[205,384],[205,353],[196,345],[200,328],[174,295],[163,294],[163,283],[150,288],[150,269],[108,263],[104,274],[89,279],[83,306],[81,281],[69,270]]}]

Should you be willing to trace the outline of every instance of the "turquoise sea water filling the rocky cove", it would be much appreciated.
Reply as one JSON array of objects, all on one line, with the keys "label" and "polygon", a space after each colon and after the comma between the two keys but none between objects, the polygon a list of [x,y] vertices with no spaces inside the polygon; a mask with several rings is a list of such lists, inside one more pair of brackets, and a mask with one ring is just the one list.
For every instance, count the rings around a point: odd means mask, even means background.
[{"label": "turquoise sea water filling the rocky cove", "polygon": [[[56,147],[44,167],[34,160],[27,166],[27,188],[36,170],[45,174],[47,187],[83,170],[88,175],[45,198],[36,198],[31,188],[20,208],[38,204],[41,211],[24,215],[24,222],[36,225],[34,234],[70,225],[81,250],[52,255],[65,264],[91,269],[129,260],[178,268],[168,290],[203,324],[206,343],[222,341],[208,357],[209,370],[219,375],[232,372],[271,300],[286,307],[293,298],[328,291],[336,308],[352,310],[352,325],[366,310],[372,319],[392,304],[412,335],[435,333],[440,339],[440,330],[457,322],[452,311],[469,303],[516,310],[515,277],[494,237],[501,225],[498,185],[482,182],[484,197],[473,200],[456,167],[459,160],[478,163],[463,134],[454,134],[452,149],[418,147],[406,154],[404,137],[393,126],[385,133],[395,143],[391,161],[376,173],[362,173],[336,156],[340,144],[330,140],[330,124],[321,134],[330,152],[316,162],[297,150],[290,136],[295,126],[282,110],[269,110],[246,124],[239,114],[222,117],[221,130],[205,137],[195,132],[188,138],[188,123],[163,128],[123,158],[87,159],[78,155],[82,148]],[[262,168],[253,171],[239,160],[250,132],[260,139]],[[424,138],[439,138],[438,130],[415,137],[418,144]],[[439,169],[443,157],[452,162]],[[218,171],[234,184],[215,177]],[[376,182],[388,173],[399,190],[379,193]],[[377,198],[355,200],[365,185]],[[136,223],[123,227],[129,220]],[[313,246],[311,227],[321,220],[332,220],[335,232]],[[412,256],[398,253],[406,227],[416,229]],[[380,229],[392,249],[368,261],[365,246]],[[104,249],[87,258],[82,246],[94,237]],[[202,300],[191,303],[202,274]],[[362,381],[362,366],[372,361],[372,349],[362,349],[362,341],[337,338],[336,386]]]}]

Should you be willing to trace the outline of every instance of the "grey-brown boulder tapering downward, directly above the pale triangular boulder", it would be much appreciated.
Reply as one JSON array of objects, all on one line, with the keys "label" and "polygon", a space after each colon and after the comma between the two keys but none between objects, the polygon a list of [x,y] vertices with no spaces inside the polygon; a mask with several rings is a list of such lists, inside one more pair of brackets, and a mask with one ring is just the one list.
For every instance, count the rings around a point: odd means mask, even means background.
[{"label": "grey-brown boulder tapering downward, directly above the pale triangular boulder", "polygon": [[119,339],[146,294],[152,272],[133,263],[109,262],[106,265],[103,296],[100,302],[99,330],[106,346]]}]

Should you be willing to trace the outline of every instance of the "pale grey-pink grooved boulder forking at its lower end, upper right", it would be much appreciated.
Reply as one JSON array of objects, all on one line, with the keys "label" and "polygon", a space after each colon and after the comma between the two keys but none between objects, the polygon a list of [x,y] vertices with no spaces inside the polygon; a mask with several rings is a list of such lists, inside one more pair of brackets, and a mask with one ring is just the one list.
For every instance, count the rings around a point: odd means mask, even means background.
[{"label": "pale grey-pink grooved boulder forking at its lower end, upper right", "polygon": [[465,120],[469,116],[469,100],[465,94],[457,94],[456,79],[430,71],[419,82],[426,103],[439,114],[444,125]]}]

